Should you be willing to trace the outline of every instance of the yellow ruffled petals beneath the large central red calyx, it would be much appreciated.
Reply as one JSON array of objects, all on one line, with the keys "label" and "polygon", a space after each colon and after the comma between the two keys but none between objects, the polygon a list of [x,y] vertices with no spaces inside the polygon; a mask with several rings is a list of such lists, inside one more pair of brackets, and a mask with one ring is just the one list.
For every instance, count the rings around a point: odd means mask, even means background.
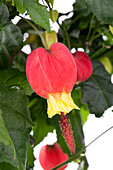
[{"label": "yellow ruffled petals beneath the large central red calyx", "polygon": [[71,98],[71,93],[66,93],[63,91],[61,94],[54,93],[49,94],[48,102],[48,117],[51,118],[55,114],[64,114],[69,113],[72,109],[78,109],[79,107],[74,103],[73,99]]}]

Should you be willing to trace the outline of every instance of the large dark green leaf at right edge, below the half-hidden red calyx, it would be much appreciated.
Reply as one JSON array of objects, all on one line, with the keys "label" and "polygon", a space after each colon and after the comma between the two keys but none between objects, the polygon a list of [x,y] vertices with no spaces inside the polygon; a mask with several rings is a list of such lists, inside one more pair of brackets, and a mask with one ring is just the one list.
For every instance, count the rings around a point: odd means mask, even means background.
[{"label": "large dark green leaf at right edge, below the half-hidden red calyx", "polygon": [[82,101],[88,104],[90,113],[101,117],[113,105],[113,84],[100,62],[93,62],[93,70],[89,80],[81,83]]}]

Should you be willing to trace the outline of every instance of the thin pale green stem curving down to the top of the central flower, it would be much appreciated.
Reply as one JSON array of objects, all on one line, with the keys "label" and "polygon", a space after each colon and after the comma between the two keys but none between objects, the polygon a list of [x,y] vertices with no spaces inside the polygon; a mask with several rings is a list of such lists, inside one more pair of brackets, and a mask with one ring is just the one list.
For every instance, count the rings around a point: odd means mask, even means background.
[{"label": "thin pale green stem curving down to the top of the central flower", "polygon": [[21,18],[22,18],[24,21],[26,21],[32,28],[35,29],[35,31],[36,31],[36,32],[38,33],[38,35],[40,36],[40,38],[41,38],[41,40],[42,40],[42,42],[43,42],[45,48],[48,49],[48,47],[47,47],[47,45],[46,45],[46,42],[45,42],[43,36],[41,35],[40,31],[39,31],[39,30],[38,30],[38,29],[37,29],[37,28],[36,28],[29,20],[23,18],[23,17],[20,16],[20,15],[19,15],[19,17],[21,17]]}]

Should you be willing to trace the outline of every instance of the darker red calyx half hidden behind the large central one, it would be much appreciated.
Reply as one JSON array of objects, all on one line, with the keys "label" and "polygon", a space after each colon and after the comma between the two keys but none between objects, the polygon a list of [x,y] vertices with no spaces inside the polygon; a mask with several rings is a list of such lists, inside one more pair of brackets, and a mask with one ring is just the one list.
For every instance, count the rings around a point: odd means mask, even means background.
[{"label": "darker red calyx half hidden behind the large central one", "polygon": [[87,80],[91,76],[93,70],[91,60],[86,53],[81,51],[76,51],[73,56],[77,66],[76,82]]}]

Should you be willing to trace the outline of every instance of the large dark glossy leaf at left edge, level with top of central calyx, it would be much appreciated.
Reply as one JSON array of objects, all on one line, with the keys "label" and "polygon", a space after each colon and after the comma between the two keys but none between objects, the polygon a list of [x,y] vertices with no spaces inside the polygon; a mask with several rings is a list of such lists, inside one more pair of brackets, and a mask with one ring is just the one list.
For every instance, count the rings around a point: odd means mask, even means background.
[{"label": "large dark glossy leaf at left edge, level with top of central calyx", "polygon": [[[10,43],[9,43],[10,42]],[[0,28],[0,68],[9,67],[19,53],[23,36],[19,28],[8,22]]]}]

